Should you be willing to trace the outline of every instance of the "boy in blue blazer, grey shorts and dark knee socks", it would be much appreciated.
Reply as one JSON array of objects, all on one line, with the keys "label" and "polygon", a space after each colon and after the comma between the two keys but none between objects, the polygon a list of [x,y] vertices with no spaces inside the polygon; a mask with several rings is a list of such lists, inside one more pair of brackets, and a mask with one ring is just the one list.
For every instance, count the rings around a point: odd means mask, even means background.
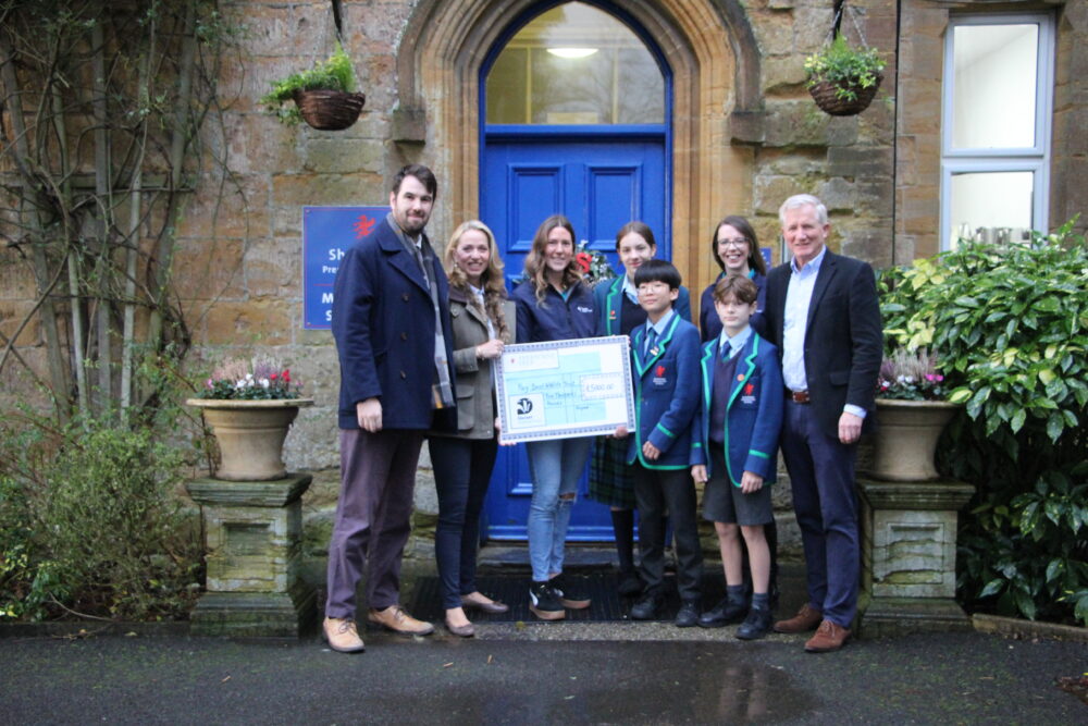
[{"label": "boy in blue blazer, grey shorts and dark knee socks", "polygon": [[[735,633],[741,640],[763,638],[771,626],[770,549],[764,526],[774,521],[770,484],[784,406],[778,350],[749,325],[757,295],[755,284],[739,275],[719,280],[714,288],[722,330],[703,347],[700,441],[705,448],[693,450],[705,451],[708,460],[691,468],[692,479],[706,484],[703,518],[714,522],[726,571],[726,598],[698,624],[714,628],[744,618]],[[741,536],[752,571],[751,603]]]}]

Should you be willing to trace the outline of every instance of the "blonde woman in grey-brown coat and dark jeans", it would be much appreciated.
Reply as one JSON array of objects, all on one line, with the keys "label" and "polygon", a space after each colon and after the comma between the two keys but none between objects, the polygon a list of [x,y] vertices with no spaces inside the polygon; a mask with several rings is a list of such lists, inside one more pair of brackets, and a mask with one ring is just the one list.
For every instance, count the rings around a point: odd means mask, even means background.
[{"label": "blonde woman in grey-brown coat and dark jeans", "polygon": [[433,432],[428,440],[438,493],[434,555],[446,629],[467,638],[475,631],[465,608],[509,610],[480,592],[475,566],[480,510],[498,447],[492,366],[515,340],[517,317],[506,297],[495,235],[486,224],[471,221],[457,227],[446,245],[444,266],[454,331],[457,433]]}]

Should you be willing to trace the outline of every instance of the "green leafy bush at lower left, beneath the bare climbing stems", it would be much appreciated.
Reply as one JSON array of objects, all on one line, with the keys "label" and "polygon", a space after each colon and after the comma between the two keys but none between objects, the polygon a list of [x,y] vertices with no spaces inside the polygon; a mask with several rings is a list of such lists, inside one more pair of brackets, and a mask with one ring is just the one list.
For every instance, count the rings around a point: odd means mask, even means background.
[{"label": "green leafy bush at lower left, beneath the bare climbing stems", "polygon": [[185,614],[201,549],[176,488],[178,450],[103,417],[0,423],[0,617]]}]

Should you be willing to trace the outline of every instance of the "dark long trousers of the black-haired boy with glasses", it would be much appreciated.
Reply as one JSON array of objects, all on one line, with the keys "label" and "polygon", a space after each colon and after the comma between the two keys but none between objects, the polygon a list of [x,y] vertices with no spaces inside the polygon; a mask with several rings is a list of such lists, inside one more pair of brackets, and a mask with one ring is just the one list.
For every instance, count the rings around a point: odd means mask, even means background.
[{"label": "dark long trousers of the black-haired boy with glasses", "polygon": [[665,583],[665,521],[669,513],[677,545],[677,588],[682,600],[702,594],[703,550],[695,520],[695,484],[688,468],[647,469],[634,465],[634,501],[639,505],[640,569],[646,592]]}]

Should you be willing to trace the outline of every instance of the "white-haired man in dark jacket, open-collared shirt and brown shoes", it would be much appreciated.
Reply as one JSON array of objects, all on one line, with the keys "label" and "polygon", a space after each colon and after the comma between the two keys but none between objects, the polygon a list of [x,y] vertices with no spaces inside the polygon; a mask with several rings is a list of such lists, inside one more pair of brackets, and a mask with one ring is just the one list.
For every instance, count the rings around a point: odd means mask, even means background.
[{"label": "white-haired man in dark jacket, open-collared shirt and brown shoes", "polygon": [[[767,275],[766,325],[782,357],[782,455],[801,527],[808,602],[778,632],[816,633],[811,653],[842,648],[857,610],[861,547],[854,462],[873,426],[882,333],[873,268],[826,246],[831,225],[814,196],[779,209],[793,259]],[[818,627],[817,627],[818,626]]]}]

